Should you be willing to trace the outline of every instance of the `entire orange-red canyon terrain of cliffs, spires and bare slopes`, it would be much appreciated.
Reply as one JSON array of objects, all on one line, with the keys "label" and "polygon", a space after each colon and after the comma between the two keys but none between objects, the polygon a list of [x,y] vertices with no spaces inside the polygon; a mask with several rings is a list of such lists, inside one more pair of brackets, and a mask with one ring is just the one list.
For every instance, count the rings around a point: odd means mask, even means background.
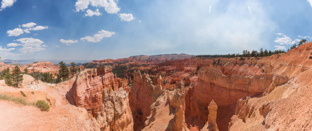
[{"label": "entire orange-red canyon terrain of cliffs, spires and bare slopes", "polygon": [[0,100],[0,130],[310,130],[311,49],[306,43],[268,57],[94,60],[58,84],[23,75],[23,87],[13,88],[2,80],[0,94],[44,100],[50,110]]}]

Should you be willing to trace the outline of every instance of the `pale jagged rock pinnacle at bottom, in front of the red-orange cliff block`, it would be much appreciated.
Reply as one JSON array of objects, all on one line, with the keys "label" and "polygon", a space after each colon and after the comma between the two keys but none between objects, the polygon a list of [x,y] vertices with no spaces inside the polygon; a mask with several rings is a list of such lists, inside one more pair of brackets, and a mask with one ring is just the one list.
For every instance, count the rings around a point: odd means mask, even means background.
[{"label": "pale jagged rock pinnacle at bottom, in front of the red-orange cliff block", "polygon": [[[104,89],[104,92],[106,91]],[[134,123],[128,94],[119,88],[103,95],[105,100],[96,117],[101,130],[133,130]]]}]

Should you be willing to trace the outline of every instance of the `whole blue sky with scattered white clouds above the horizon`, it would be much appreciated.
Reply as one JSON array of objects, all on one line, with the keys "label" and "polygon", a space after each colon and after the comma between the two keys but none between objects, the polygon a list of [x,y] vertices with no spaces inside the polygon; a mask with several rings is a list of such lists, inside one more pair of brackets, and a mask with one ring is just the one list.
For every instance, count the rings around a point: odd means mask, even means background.
[{"label": "whole blue sky with scattered white clouds above the horizon", "polygon": [[9,59],[227,54],[312,40],[312,0],[0,1],[0,56]]}]

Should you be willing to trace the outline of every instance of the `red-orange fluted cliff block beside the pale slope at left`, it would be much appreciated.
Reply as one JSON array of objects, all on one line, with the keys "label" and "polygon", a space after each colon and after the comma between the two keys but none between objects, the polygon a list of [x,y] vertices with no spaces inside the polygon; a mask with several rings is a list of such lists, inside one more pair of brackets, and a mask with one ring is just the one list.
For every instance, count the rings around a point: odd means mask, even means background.
[{"label": "red-orange fluted cliff block beside the pale slope at left", "polygon": [[128,88],[127,80],[116,78],[110,66],[86,69],[77,75],[71,88],[74,104],[85,108],[90,116],[96,116],[103,103],[103,89],[107,93],[118,88]]}]

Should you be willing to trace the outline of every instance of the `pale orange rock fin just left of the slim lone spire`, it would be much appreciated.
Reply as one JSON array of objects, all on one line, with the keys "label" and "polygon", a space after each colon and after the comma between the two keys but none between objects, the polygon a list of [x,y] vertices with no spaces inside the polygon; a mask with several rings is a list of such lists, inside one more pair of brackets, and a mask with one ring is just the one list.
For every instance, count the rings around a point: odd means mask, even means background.
[{"label": "pale orange rock fin just left of the slim lone spire", "polygon": [[151,105],[151,114],[143,130],[189,130],[185,122],[184,100],[184,93],[180,89],[166,90]]}]

